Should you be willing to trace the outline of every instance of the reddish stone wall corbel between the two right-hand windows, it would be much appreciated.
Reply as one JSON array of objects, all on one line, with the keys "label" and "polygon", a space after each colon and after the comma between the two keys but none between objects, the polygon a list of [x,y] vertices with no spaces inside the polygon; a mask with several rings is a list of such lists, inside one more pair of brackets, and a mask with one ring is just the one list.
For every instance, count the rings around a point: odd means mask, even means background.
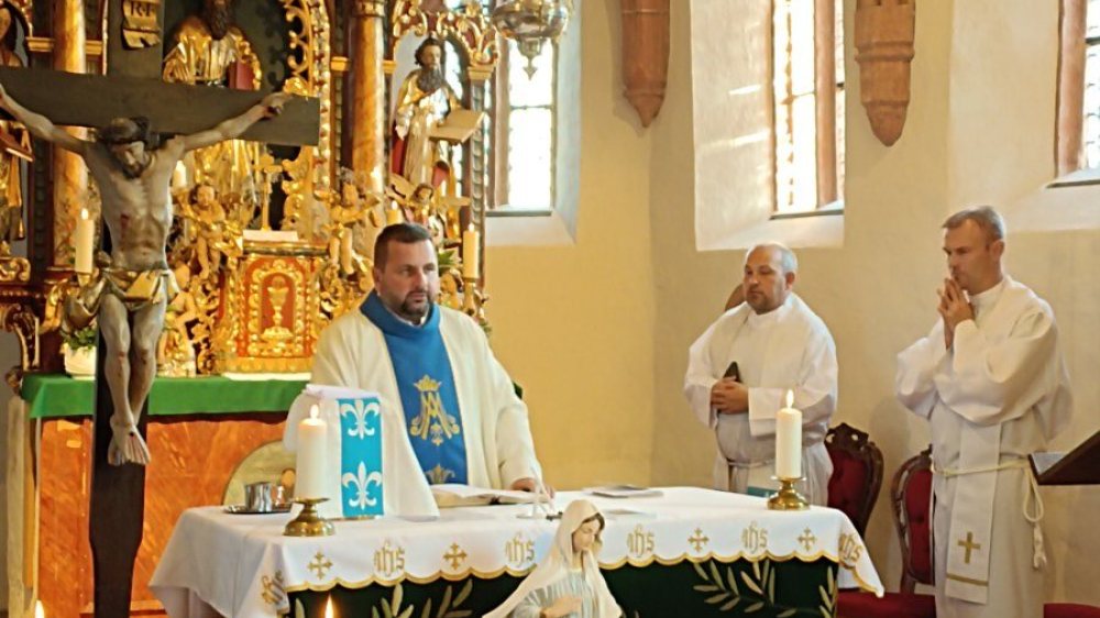
[{"label": "reddish stone wall corbel between the two right-hand windows", "polygon": [[875,136],[887,146],[901,137],[910,98],[916,0],[858,0],[856,62],[859,100]]}]

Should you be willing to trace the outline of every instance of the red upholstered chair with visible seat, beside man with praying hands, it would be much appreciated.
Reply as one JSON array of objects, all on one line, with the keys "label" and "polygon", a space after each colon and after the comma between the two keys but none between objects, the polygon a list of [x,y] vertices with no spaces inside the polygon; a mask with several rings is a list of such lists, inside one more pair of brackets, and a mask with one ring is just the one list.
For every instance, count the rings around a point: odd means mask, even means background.
[{"label": "red upholstered chair with visible seat, beside man with praying hands", "polygon": [[914,594],[917,583],[933,585],[932,449],[906,461],[890,485],[898,539],[901,541],[901,592],[877,598],[857,591],[840,591],[837,616],[840,618],[934,618],[936,598]]}]

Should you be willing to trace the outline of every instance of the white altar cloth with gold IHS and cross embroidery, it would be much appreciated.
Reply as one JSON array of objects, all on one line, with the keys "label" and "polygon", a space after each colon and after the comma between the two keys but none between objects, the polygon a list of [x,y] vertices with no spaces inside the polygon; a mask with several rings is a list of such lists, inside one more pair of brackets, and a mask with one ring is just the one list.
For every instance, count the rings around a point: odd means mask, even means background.
[{"label": "white altar cloth with gold IHS and cross embroidery", "polygon": [[[824,558],[840,564],[840,587],[882,593],[862,540],[835,509],[771,511],[762,498],[693,487],[631,499],[568,492],[556,503],[564,508],[582,497],[607,519],[600,555],[604,569],[712,558]],[[529,509],[443,509],[435,521],[336,521],[332,537],[292,538],[283,536],[287,515],[194,508],[177,521],[150,588],[172,618],[258,618],[288,611],[289,592],[522,575],[543,555],[556,529],[551,521],[517,517]],[[617,512],[627,509],[638,514]]]}]

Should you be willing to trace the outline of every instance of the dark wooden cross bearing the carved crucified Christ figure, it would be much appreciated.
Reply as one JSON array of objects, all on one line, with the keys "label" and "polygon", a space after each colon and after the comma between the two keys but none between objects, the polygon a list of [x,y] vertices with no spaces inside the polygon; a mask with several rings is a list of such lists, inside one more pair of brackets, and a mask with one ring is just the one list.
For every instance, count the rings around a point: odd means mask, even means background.
[{"label": "dark wooden cross bearing the carved crucified Christ figure", "polygon": [[[151,130],[168,134],[190,134],[210,129],[244,112],[263,98],[263,92],[162,81],[161,45],[131,49],[123,44],[125,1],[109,0],[106,77],[6,68],[0,69],[0,82],[13,99],[58,125],[99,128],[113,118],[144,115],[150,119]],[[154,30],[163,29],[164,4],[145,4],[151,9],[143,10],[143,27],[152,24]],[[130,25],[132,30],[133,24]],[[153,34],[143,32],[146,37]],[[319,101],[297,98],[285,106],[278,118],[254,124],[243,139],[312,145],[318,141],[319,126]],[[95,448],[89,538],[96,616],[125,618],[130,616],[133,565],[142,539],[145,467],[111,466],[107,463],[111,441],[109,421],[114,409],[105,378],[106,347],[100,339],[92,418]],[[142,435],[145,435],[147,419],[146,402],[138,426]]]}]

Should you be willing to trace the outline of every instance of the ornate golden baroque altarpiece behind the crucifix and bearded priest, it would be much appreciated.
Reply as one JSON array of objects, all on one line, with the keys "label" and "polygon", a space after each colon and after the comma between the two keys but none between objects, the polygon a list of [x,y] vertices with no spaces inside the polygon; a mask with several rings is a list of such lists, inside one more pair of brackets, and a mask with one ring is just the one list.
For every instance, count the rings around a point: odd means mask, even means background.
[{"label": "ornate golden baroque altarpiece behind the crucifix and bearded priest", "polygon": [[[286,27],[286,48],[276,54],[283,59],[265,59],[271,45],[251,44],[235,26],[211,37],[198,15],[165,24],[165,80],[275,86],[317,97],[321,118],[317,146],[287,153],[228,142],[194,153],[177,168],[168,267],[182,291],[168,306],[162,371],[308,371],[321,329],[354,310],[373,287],[374,239],[398,220],[421,223],[436,238],[439,301],[485,323],[481,264],[463,265],[462,257],[480,262],[482,254],[468,245],[484,238],[485,190],[472,179],[484,177],[488,131],[461,137],[461,174],[451,169],[441,183],[416,184],[391,172],[389,150],[398,45],[450,42],[460,57],[448,62],[459,63],[464,79],[459,103],[477,112],[498,59],[488,14],[476,1],[451,10],[439,0],[268,1]],[[100,19],[106,3],[98,2]],[[25,42],[14,56],[23,56],[29,70],[103,70],[103,42],[88,34],[101,29],[89,27],[88,12],[73,4],[44,11],[33,0],[7,3]],[[0,57],[14,57],[12,52],[0,49]],[[264,86],[273,65],[284,77]],[[0,214],[6,222],[25,221],[26,230],[8,232],[0,243],[0,328],[20,341],[20,365],[7,375],[19,391],[24,373],[61,368],[61,340],[72,335],[65,332],[66,299],[97,277],[74,274],[77,219],[82,209],[96,218],[99,208],[79,163],[38,142],[20,151],[21,128],[12,124],[0,121],[0,172],[15,169],[10,183],[26,190],[22,200],[0,200]],[[453,164],[437,163],[444,170]],[[24,238],[25,257],[13,246]]]}]

